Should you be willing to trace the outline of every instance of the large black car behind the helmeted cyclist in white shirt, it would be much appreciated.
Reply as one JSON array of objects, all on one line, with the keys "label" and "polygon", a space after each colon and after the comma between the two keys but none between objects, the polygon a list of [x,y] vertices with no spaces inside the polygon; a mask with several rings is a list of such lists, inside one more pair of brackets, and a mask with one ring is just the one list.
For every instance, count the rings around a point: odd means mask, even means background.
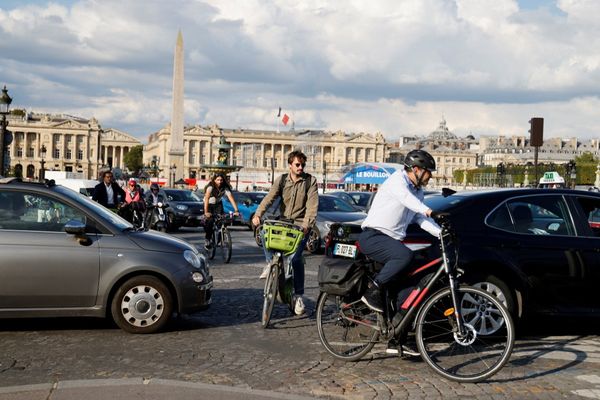
[{"label": "large black car behind the helmeted cyclist in white shirt", "polygon": [[[600,316],[599,193],[464,191],[429,194],[425,203],[451,214],[463,281],[496,294],[515,320],[529,313]],[[416,225],[405,243],[425,248],[418,261],[439,254],[437,239]]]}]

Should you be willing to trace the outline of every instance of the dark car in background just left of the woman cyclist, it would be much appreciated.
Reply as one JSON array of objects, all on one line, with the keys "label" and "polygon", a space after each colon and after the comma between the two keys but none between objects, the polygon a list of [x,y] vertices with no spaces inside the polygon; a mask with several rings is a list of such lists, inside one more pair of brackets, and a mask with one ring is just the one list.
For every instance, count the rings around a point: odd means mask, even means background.
[{"label": "dark car in background just left of the woman cyclist", "polygon": [[163,189],[169,207],[169,229],[182,226],[200,226],[204,220],[204,201],[195,193],[185,189]]}]

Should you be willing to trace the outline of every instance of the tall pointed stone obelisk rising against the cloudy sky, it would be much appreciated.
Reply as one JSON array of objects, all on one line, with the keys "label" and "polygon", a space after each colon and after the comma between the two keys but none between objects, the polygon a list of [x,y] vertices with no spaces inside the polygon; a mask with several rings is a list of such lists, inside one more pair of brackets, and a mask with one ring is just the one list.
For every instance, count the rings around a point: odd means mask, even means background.
[{"label": "tall pointed stone obelisk rising against the cloudy sky", "polygon": [[173,113],[171,114],[171,148],[169,149],[170,186],[185,176],[183,169],[183,36],[177,34],[173,61]]}]

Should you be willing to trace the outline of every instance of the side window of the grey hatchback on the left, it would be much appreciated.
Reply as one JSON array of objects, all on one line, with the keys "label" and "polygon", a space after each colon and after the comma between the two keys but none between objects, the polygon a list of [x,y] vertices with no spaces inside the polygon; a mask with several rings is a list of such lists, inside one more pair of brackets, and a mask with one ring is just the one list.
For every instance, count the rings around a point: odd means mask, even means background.
[{"label": "side window of the grey hatchback on the left", "polygon": [[68,221],[86,224],[86,216],[70,205],[42,194],[0,193],[0,229],[61,232]]}]

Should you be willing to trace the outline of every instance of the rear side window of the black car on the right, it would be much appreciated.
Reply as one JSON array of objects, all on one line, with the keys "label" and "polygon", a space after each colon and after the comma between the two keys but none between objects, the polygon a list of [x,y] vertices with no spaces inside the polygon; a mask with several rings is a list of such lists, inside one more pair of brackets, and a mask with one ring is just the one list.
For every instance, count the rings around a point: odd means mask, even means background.
[{"label": "rear side window of the black car on the right", "polygon": [[487,219],[487,224],[528,235],[574,236],[569,209],[562,196],[528,196],[508,200]]}]

